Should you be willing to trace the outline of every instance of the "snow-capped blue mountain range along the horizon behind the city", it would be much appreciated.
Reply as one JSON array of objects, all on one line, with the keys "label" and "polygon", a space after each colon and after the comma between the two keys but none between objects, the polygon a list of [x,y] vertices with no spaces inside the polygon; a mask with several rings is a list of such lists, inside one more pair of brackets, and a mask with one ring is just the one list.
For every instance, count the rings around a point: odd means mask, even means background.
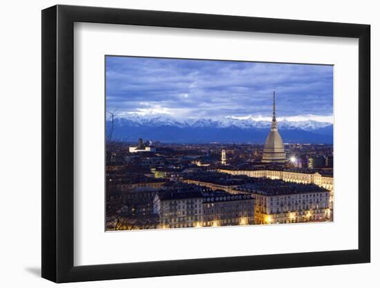
[{"label": "snow-capped blue mountain range along the horizon behind the city", "polygon": [[[113,139],[136,142],[158,140],[170,143],[264,143],[271,122],[256,121],[253,117],[237,119],[187,118],[169,115],[131,115],[115,118]],[[107,121],[107,128],[111,122]],[[287,143],[332,144],[333,125],[314,120],[278,122],[278,131]]]}]

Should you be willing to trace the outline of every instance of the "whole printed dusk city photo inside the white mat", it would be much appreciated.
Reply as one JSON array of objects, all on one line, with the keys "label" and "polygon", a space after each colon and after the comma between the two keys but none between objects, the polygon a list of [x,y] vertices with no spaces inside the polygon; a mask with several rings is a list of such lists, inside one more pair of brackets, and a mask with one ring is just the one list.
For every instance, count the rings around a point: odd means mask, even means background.
[{"label": "whole printed dusk city photo inside the white mat", "polygon": [[[224,94],[209,68],[218,80],[244,71],[249,84],[239,77]],[[289,75],[269,77],[270,89],[255,71]],[[289,79],[312,90],[294,96]],[[106,57],[106,231],[330,222],[332,127],[330,66]]]}]

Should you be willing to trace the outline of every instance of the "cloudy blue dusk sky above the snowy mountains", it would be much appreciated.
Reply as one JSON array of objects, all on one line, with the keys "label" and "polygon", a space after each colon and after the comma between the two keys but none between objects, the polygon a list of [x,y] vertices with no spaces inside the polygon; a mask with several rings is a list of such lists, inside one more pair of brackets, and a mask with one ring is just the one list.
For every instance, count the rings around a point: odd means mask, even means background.
[{"label": "cloudy blue dusk sky above the snowy mountains", "polygon": [[333,122],[333,66],[106,57],[106,109],[117,117],[251,117]]}]

